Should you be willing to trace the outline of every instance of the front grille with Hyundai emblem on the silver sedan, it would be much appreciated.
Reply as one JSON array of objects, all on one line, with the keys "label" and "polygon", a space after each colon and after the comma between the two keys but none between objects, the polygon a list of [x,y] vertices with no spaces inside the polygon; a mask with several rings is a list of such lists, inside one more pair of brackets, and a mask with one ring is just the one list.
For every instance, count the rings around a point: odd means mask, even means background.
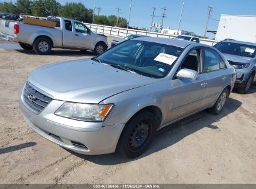
[{"label": "front grille with Hyundai emblem on the silver sedan", "polygon": [[[32,98],[29,99],[29,96],[32,95]],[[34,97],[34,98],[33,98]],[[39,114],[47,104],[50,103],[52,98],[45,96],[45,94],[40,93],[35,90],[31,85],[26,83],[26,86],[23,91],[24,102],[29,106],[33,113]]]}]

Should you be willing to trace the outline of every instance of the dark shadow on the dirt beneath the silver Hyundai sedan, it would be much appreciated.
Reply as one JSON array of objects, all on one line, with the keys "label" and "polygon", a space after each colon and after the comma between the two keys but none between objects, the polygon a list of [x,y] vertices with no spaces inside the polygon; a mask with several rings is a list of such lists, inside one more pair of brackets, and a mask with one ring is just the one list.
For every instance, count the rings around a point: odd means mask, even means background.
[{"label": "dark shadow on the dirt beneath the silver Hyundai sedan", "polygon": [[212,115],[207,113],[207,111],[201,111],[200,113],[194,114],[185,118],[181,121],[175,122],[174,124],[170,124],[163,129],[160,129],[156,137],[154,138],[151,146],[144,154],[140,157],[136,157],[135,159],[125,159],[120,157],[118,154],[105,154],[105,155],[83,155],[77,154],[71,150],[68,150],[73,155],[80,157],[82,159],[88,160],[95,164],[100,165],[116,165],[116,164],[123,164],[125,162],[130,162],[133,160],[138,160],[148,155],[154,154],[160,150],[166,149],[173,144],[184,139],[184,137],[197,132],[204,127],[208,127],[210,129],[219,129],[219,127],[214,126],[213,123],[219,121],[220,119],[224,118],[225,116],[233,113],[236,109],[238,109],[242,103],[237,101],[236,99],[229,98],[225,107],[221,114],[219,115]]}]

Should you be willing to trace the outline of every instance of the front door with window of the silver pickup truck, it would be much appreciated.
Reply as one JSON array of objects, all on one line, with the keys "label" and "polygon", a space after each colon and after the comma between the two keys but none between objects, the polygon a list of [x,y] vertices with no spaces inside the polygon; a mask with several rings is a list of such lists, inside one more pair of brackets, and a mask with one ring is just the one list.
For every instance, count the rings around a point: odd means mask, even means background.
[{"label": "front door with window of the silver pickup truck", "polygon": [[90,49],[92,46],[92,35],[90,30],[84,24],[80,22],[74,22],[75,24],[75,36],[74,36],[74,47]]}]

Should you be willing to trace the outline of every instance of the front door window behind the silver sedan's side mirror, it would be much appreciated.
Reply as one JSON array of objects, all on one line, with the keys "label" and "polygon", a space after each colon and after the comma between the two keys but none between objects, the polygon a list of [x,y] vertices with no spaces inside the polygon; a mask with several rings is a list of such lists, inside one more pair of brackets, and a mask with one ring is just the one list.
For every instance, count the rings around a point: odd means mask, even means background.
[{"label": "front door window behind the silver sedan's side mirror", "polygon": [[194,49],[189,52],[180,69],[190,69],[200,72],[200,49]]}]

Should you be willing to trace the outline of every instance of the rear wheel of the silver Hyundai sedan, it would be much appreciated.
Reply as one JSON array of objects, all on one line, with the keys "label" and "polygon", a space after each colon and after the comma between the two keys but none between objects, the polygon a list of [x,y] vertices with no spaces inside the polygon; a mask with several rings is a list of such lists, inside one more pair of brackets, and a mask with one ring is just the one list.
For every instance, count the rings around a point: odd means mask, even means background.
[{"label": "rear wheel of the silver Hyundai sedan", "polygon": [[220,93],[219,98],[217,99],[216,103],[212,108],[208,109],[209,113],[217,115],[222,112],[223,107],[225,106],[225,103],[227,101],[227,98],[229,97],[229,90],[225,88],[222,93]]}]

